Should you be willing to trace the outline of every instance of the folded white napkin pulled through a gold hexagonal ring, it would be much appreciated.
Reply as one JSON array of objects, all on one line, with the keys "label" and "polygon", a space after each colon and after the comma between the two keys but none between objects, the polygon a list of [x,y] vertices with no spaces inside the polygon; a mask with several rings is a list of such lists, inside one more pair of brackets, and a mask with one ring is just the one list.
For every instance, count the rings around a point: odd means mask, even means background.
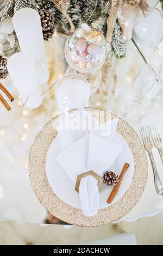
[{"label": "folded white napkin pulled through a gold hexagonal ring", "polygon": [[[92,120],[91,126],[89,120]],[[66,121],[71,123],[69,129]],[[122,150],[121,144],[112,143],[117,122],[118,118],[99,123],[85,110],[76,111],[74,114],[66,113],[58,122],[57,130],[63,151],[56,159],[70,175],[74,184],[77,176],[86,171],[93,170],[102,177],[103,172],[115,162]],[[84,124],[85,130],[81,126],[78,127],[79,123]],[[84,215],[87,217],[96,215],[99,207],[99,191],[95,177],[90,175],[81,179],[79,196]]]}]

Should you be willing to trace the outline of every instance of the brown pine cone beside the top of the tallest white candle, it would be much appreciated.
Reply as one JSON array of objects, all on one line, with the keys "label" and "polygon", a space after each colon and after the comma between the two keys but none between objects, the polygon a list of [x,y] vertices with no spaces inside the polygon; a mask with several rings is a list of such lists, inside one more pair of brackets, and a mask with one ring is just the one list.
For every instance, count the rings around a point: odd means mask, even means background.
[{"label": "brown pine cone beside the top of the tallest white candle", "polygon": [[54,17],[53,14],[45,9],[39,11],[42,31],[51,30],[54,27]]}]

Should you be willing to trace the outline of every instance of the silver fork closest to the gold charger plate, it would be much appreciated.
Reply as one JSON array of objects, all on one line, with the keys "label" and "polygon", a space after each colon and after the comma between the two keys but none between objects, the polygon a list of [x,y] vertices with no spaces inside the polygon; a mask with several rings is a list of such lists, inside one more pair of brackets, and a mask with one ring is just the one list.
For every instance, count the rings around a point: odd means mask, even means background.
[{"label": "silver fork closest to the gold charger plate", "polygon": [[153,153],[152,153],[153,144],[152,144],[151,137],[149,136],[148,128],[146,126],[142,127],[140,129],[140,134],[142,137],[142,141],[143,141],[145,150],[148,152],[149,159],[151,161],[153,174],[154,174],[154,184],[155,184],[156,192],[158,193],[158,195],[160,197],[162,197],[163,196],[163,186],[162,186],[162,183],[161,183],[161,180],[160,180],[160,177],[159,177],[159,174],[156,169],[155,162],[154,162],[154,157],[153,157]]}]

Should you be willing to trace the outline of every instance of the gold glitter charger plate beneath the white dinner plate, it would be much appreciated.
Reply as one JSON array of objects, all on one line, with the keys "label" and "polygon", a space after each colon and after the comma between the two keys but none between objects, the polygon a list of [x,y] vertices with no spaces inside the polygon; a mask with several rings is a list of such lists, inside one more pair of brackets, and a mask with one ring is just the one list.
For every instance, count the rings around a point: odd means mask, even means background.
[{"label": "gold glitter charger plate beneath the white dinner plate", "polygon": [[[99,111],[102,111],[103,115],[100,116],[101,122],[106,122],[109,121],[110,118],[113,119],[116,117],[114,114],[108,115],[108,112],[105,110],[95,108],[86,108],[86,110],[91,112],[98,120]],[[103,120],[101,117],[103,117]],[[97,214],[93,217],[85,217],[82,210],[76,209],[61,201],[60,198],[55,195],[47,180],[45,168],[46,156],[49,147],[57,136],[56,126],[59,118],[60,115],[45,124],[37,134],[30,150],[29,176],[37,199],[53,216],[73,225],[98,227],[117,221],[137,204],[147,183],[148,162],[139,136],[128,123],[119,118],[117,132],[126,140],[133,153],[133,180],[127,192],[116,201],[115,204],[111,206],[108,205],[108,207],[98,210]]]}]

